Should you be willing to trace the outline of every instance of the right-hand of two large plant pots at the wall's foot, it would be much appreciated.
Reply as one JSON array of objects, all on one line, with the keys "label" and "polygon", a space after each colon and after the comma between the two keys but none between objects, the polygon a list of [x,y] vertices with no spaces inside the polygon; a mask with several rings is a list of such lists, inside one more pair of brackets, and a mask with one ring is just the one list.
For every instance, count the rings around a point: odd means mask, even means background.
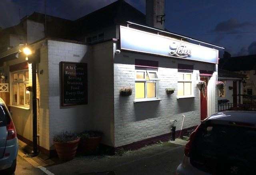
[{"label": "right-hand of two large plant pots at the wall's foot", "polygon": [[93,153],[96,151],[97,147],[100,145],[102,137],[89,137],[87,139],[82,139],[80,141],[80,150],[82,153]]}]

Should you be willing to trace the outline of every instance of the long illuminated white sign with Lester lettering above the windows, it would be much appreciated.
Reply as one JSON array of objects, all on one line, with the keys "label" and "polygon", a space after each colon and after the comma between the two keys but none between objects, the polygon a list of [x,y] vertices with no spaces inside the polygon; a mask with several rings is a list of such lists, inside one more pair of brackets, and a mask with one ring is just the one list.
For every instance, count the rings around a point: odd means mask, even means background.
[{"label": "long illuminated white sign with Lester lettering above the windows", "polygon": [[218,64],[218,50],[120,26],[121,50]]}]

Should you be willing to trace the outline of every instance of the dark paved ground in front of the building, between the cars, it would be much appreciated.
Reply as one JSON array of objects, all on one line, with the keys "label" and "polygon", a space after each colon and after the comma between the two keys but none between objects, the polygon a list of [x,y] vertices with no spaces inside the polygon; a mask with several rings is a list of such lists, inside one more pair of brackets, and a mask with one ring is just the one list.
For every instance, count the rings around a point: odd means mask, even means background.
[{"label": "dark paved ground in front of the building, between the cars", "polygon": [[167,142],[122,156],[78,156],[46,169],[55,175],[174,175],[183,153],[184,146]]}]

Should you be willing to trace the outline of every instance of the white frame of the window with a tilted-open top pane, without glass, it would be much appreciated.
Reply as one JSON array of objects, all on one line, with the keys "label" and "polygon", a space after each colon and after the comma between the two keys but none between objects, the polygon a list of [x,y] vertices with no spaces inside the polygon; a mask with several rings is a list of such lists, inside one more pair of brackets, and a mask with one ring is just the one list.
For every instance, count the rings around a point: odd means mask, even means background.
[{"label": "white frame of the window with a tilted-open top pane, without glass", "polygon": [[[136,77],[137,72],[144,72],[144,79],[137,79],[137,77]],[[147,76],[148,72],[156,73],[157,78],[151,78],[150,79],[150,77],[148,76],[149,80],[146,80],[146,76]],[[136,69],[135,70],[135,84],[140,83],[140,82],[144,82],[144,98],[136,98],[136,94],[135,94],[134,95],[135,101],[150,101],[150,100],[158,99],[158,81],[159,80],[160,80],[160,78],[158,77],[157,70]],[[147,97],[148,96],[148,94],[147,94],[147,83],[155,83],[155,97],[149,97],[149,98]],[[134,89],[135,88],[136,87],[134,86]]]}]

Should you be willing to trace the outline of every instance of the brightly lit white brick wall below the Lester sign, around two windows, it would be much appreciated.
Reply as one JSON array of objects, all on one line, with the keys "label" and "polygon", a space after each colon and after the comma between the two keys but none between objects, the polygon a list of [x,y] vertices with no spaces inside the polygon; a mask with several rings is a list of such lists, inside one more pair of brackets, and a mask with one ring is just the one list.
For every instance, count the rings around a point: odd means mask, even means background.
[{"label": "brightly lit white brick wall below the Lester sign, around two windows", "polygon": [[[135,59],[155,60],[159,62],[158,75],[159,98],[161,101],[134,103]],[[194,98],[177,99],[177,65],[193,64],[192,74]],[[114,123],[115,147],[170,133],[170,120],[177,120],[176,130],[180,130],[182,115],[185,115],[183,128],[200,123],[200,91],[196,87],[199,70],[214,69],[213,64],[161,58],[146,54],[135,54],[122,51],[114,58]],[[198,77],[197,77],[198,76]],[[119,90],[131,86],[132,95],[120,96]],[[175,88],[173,94],[167,95],[166,88]],[[215,107],[216,108],[216,107]]]}]

